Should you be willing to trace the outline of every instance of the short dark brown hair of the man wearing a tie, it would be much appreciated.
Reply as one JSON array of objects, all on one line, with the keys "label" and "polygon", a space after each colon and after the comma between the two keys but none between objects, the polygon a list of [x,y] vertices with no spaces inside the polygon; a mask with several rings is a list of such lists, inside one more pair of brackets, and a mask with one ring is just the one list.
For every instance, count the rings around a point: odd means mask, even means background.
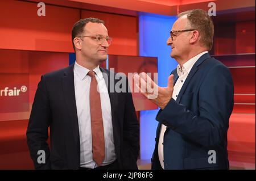
[{"label": "short dark brown hair of the man wearing a tie", "polygon": [[72,45],[73,45],[74,50],[76,50],[76,49],[75,49],[75,44],[74,44],[73,40],[75,39],[75,37],[82,35],[82,33],[84,32],[85,25],[89,22],[104,24],[104,21],[100,20],[98,18],[85,18],[85,19],[80,19],[78,22],[76,22],[73,25],[72,33],[71,33],[71,35],[72,35]]}]

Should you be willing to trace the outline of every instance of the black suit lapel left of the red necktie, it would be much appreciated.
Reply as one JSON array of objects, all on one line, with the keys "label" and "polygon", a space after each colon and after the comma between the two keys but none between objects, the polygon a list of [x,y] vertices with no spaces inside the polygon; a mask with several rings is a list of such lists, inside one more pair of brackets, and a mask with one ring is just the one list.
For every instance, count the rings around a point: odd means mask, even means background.
[{"label": "black suit lapel left of the red necktie", "polygon": [[65,104],[68,108],[69,115],[72,121],[73,136],[75,138],[75,144],[80,151],[79,141],[79,125],[76,109],[76,96],[75,96],[75,85],[74,85],[74,64],[69,66],[63,75],[63,92]]}]

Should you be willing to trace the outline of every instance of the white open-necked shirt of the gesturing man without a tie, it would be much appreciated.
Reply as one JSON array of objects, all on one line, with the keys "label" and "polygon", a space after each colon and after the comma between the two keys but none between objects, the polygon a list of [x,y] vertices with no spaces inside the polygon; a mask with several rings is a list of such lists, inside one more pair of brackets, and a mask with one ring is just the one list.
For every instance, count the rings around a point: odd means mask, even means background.
[{"label": "white open-necked shirt of the gesturing man without a tie", "polygon": [[[197,54],[197,56],[195,56],[195,57],[191,58],[190,60],[188,60],[187,62],[185,62],[185,64],[183,64],[182,67],[180,66],[180,64],[177,65],[177,74],[179,75],[179,78],[177,79],[177,82],[175,83],[174,92],[172,93],[172,99],[174,99],[174,100],[177,99],[177,96],[179,95],[181,87],[184,85],[185,79],[187,79],[188,74],[189,74],[190,70],[192,69],[193,65],[205,53],[208,53],[208,51]],[[167,129],[167,127],[162,124],[161,129],[160,129],[159,142],[158,142],[158,157],[159,157],[159,161],[160,161],[160,164],[163,169],[164,169],[164,153],[163,153],[164,145],[163,145],[163,142],[164,142],[164,132],[166,132],[166,129]]]}]

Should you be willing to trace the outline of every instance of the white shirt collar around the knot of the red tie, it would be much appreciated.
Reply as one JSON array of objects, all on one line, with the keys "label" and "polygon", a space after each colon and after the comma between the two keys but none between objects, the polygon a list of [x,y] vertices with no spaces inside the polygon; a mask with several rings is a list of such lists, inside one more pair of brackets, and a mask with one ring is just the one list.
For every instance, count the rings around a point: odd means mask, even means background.
[{"label": "white shirt collar around the knot of the red tie", "polygon": [[[81,66],[81,65],[77,64],[77,62],[75,62],[74,71],[79,76],[79,78],[82,80],[86,77],[86,75],[88,74],[88,72],[90,70],[87,68],[84,68],[83,66]],[[96,76],[99,79],[101,79],[103,77],[102,72],[100,70],[100,66],[97,66],[95,69],[93,69],[93,71],[96,73]]]}]

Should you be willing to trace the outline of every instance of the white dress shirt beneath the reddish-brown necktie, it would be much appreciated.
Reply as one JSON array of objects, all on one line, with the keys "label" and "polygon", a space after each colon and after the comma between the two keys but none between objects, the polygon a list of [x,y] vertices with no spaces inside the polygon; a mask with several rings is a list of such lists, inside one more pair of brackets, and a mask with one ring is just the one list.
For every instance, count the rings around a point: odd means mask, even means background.
[{"label": "white dress shirt beneath the reddish-brown necktie", "polygon": [[[80,136],[80,166],[94,169],[98,165],[93,161],[92,153],[92,128],[90,122],[90,81],[87,75],[89,69],[82,67],[75,62],[74,83],[76,95],[77,117],[79,121]],[[101,110],[105,138],[105,159],[102,166],[109,165],[115,161],[114,137],[112,127],[111,105],[108,89],[99,66],[93,71],[96,73],[96,80],[100,90]]]}]

